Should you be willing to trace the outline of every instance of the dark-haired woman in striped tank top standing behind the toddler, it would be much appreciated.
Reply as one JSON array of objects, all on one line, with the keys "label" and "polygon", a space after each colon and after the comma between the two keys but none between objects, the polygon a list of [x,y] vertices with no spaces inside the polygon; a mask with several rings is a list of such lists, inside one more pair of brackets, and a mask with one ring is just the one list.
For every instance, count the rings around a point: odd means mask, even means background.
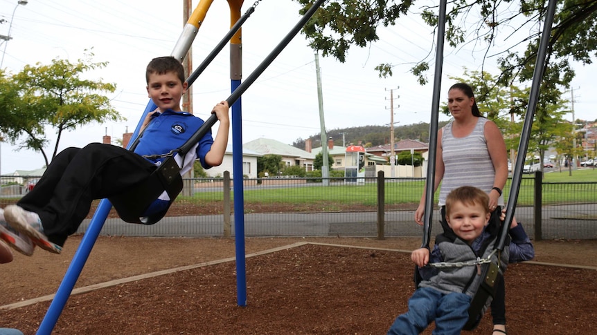
[{"label": "dark-haired woman in striped tank top standing behind the toddler", "polygon": [[[438,205],[442,221],[445,221],[446,195],[465,185],[487,192],[492,219],[499,218],[504,207],[501,193],[508,178],[504,137],[494,122],[481,116],[472,88],[467,84],[458,83],[449,88],[448,109],[454,120],[438,131],[434,180],[434,192],[441,182]],[[418,224],[423,223],[425,190],[415,212]],[[500,280],[491,305],[494,335],[506,332],[504,295],[504,280]]]}]

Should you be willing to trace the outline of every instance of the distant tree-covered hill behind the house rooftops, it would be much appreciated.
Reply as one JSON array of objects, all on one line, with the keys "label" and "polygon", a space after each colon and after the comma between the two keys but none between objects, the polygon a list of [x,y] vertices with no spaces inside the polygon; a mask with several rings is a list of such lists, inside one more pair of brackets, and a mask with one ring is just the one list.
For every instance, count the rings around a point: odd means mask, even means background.
[{"label": "distant tree-covered hill behind the house rooftops", "polygon": [[[447,121],[438,123],[438,128],[447,124]],[[343,139],[344,136],[344,139]],[[332,137],[334,144],[337,146],[349,144],[361,144],[362,146],[378,146],[390,144],[390,127],[389,126],[359,126],[351,128],[332,129],[328,131],[328,138]],[[321,146],[321,133],[310,135],[306,139],[311,139],[312,147],[319,148]],[[292,146],[299,149],[305,149],[305,140],[299,138],[292,142]],[[407,124],[404,126],[396,126],[394,128],[395,142],[400,140],[419,140],[421,142],[429,143],[429,123],[420,122],[418,124]]]}]

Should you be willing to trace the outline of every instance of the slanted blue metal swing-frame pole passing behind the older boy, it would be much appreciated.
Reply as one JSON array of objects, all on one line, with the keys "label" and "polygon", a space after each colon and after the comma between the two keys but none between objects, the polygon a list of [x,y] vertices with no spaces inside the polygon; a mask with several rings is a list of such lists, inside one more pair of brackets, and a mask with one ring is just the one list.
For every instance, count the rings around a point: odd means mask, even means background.
[{"label": "slanted blue metal swing-frame pole passing behind the older boy", "polygon": [[[156,105],[150,100],[148,106],[145,107],[143,116],[139,119],[139,124],[137,124],[132,138],[136,138],[139,135],[139,130],[141,129],[145,115],[155,108]],[[129,143],[129,146],[131,144],[132,141]],[[66,301],[69,300],[73,287],[75,287],[75,284],[81,275],[85,262],[87,262],[87,258],[89,258],[91,249],[93,249],[93,245],[95,245],[96,240],[102,231],[110,209],[112,209],[112,204],[107,199],[102,199],[98,205],[98,209],[96,209],[96,213],[94,213],[93,218],[91,218],[89,227],[87,228],[87,231],[85,231],[85,235],[75,252],[75,256],[73,256],[69,269],[67,269],[66,274],[64,274],[62,283],[60,283],[60,287],[58,287],[58,290],[56,291],[56,296],[52,300],[48,312],[46,312],[46,316],[44,316],[44,320],[42,320],[41,325],[39,325],[39,329],[37,329],[38,335],[49,335],[54,329],[54,326],[62,313],[62,309],[64,309],[64,305],[66,305]]]}]

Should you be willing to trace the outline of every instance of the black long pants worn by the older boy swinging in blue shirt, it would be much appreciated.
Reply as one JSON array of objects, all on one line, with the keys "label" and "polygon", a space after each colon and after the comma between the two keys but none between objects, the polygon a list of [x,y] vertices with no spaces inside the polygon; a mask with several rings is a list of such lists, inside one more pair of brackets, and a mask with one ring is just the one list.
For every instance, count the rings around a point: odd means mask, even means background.
[{"label": "black long pants worn by the older boy swinging in blue shirt", "polygon": [[120,146],[92,143],[67,148],[17,204],[37,213],[48,240],[62,246],[89,213],[92,200],[121,193],[143,182],[154,169],[148,160]]}]

